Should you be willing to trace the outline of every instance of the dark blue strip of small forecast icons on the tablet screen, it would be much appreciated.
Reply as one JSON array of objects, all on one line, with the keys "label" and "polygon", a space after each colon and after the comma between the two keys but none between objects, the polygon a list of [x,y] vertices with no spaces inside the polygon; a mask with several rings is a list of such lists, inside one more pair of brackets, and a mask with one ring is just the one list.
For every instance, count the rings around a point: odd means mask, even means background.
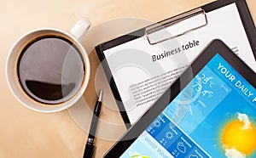
[{"label": "dark blue strip of small forecast icons on the tablet screen", "polygon": [[209,157],[165,115],[160,115],[146,130],[173,157]]}]

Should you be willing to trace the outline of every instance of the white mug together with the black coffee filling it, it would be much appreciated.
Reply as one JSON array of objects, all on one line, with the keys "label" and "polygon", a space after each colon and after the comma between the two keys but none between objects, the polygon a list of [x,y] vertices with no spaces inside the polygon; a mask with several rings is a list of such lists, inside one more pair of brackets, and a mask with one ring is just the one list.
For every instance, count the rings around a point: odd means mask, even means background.
[{"label": "white mug together with the black coffee filling it", "polygon": [[[90,61],[81,40],[89,27],[90,21],[82,18],[69,32],[41,28],[29,31],[15,42],[9,51],[6,77],[11,92],[21,104],[31,110],[50,113],[66,110],[83,96],[90,80]],[[70,47],[66,51],[68,44]],[[61,54],[62,49],[67,52],[66,56]],[[52,56],[47,57],[46,53]],[[42,59],[35,61],[37,58]],[[75,59],[79,59],[81,64],[74,62]],[[62,67],[57,64],[61,62]],[[61,83],[55,84],[56,81]],[[68,93],[63,91],[65,88]]]}]

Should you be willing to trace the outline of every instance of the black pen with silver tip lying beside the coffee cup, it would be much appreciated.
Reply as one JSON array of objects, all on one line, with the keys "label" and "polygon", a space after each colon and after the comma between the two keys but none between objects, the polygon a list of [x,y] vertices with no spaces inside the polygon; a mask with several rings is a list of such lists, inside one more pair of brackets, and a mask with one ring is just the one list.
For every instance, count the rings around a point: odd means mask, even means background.
[{"label": "black pen with silver tip lying beside the coffee cup", "polygon": [[93,145],[93,143],[94,143],[96,127],[98,124],[101,109],[102,109],[102,90],[99,94],[99,99],[96,101],[96,105],[95,105],[95,108],[93,111],[93,116],[92,116],[91,123],[90,123],[90,132],[89,132],[86,146],[84,149],[84,158],[93,157],[94,150],[95,150],[95,146]]}]

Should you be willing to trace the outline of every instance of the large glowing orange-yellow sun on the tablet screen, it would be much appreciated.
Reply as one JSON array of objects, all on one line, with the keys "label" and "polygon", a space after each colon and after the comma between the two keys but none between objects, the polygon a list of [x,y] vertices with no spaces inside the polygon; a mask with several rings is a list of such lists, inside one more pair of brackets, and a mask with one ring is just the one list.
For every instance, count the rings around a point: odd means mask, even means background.
[{"label": "large glowing orange-yellow sun on the tablet screen", "polygon": [[256,128],[250,121],[231,121],[222,134],[225,150],[236,150],[242,155],[249,155],[256,148]]}]

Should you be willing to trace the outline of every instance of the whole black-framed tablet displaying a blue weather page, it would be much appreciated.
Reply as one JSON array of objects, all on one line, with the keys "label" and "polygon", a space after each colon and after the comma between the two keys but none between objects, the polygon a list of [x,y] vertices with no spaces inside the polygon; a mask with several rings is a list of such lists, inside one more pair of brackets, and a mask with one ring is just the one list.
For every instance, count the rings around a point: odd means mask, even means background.
[{"label": "whole black-framed tablet displaying a blue weather page", "polygon": [[256,75],[212,41],[105,157],[256,157]]}]

